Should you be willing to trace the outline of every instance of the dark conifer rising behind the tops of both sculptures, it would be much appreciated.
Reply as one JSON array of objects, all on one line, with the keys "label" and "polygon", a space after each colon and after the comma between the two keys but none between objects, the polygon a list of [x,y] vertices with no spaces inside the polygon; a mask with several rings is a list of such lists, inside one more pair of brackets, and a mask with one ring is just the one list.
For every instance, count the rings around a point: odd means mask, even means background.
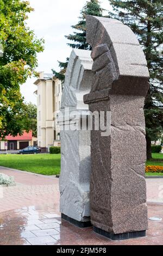
[{"label": "dark conifer rising behind the tops of both sculptures", "polygon": [[[98,0],[87,1],[84,5],[82,11],[80,11],[81,16],[79,17],[79,22],[77,25],[72,26],[77,32],[73,32],[73,34],[65,35],[65,38],[73,41],[73,43],[68,43],[67,45],[71,48],[78,48],[82,50],[91,50],[91,46],[86,42],[86,15],[93,16],[102,16],[103,9]],[[68,65],[68,58],[66,62],[59,62],[59,67],[66,71]],[[65,79],[65,75],[52,70],[53,74],[61,80]]]}]

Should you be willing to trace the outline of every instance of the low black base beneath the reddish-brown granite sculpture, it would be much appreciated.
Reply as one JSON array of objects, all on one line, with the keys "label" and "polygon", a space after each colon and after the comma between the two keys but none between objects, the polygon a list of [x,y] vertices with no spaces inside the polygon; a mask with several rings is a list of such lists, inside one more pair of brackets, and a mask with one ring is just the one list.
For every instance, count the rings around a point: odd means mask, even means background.
[{"label": "low black base beneath the reddish-brown granite sculpture", "polygon": [[112,234],[100,228],[96,228],[93,226],[93,231],[97,234],[108,237],[111,240],[126,240],[126,239],[133,239],[137,237],[146,236],[146,230],[143,231],[135,231],[135,232],[128,232],[123,234]]}]

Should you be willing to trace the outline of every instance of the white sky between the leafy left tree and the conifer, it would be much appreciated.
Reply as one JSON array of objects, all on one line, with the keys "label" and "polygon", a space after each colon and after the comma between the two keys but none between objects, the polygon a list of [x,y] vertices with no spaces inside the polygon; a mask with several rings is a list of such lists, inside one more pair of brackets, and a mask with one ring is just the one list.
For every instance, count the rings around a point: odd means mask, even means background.
[{"label": "white sky between the leafy left tree and the conifer", "polygon": [[[57,60],[65,62],[72,51],[72,48],[66,45],[68,40],[65,35],[73,32],[71,25],[76,25],[78,22],[80,10],[86,0],[29,0],[29,2],[35,10],[29,14],[28,26],[34,30],[37,38],[45,39],[45,50],[38,54],[37,71],[52,73],[52,68],[59,71]],[[108,0],[101,0],[101,6],[106,10],[110,9]],[[28,79],[26,84],[21,86],[21,93],[27,102],[36,103],[36,96],[33,94],[37,89],[33,84],[35,80],[35,77]]]}]

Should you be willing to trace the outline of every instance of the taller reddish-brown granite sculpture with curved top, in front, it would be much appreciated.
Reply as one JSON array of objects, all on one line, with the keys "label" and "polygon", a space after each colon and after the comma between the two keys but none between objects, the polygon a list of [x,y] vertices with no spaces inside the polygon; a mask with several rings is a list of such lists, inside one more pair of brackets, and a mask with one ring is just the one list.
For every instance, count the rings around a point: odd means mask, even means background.
[{"label": "taller reddish-brown granite sculpture with curved top, in front", "polygon": [[111,113],[110,136],[91,132],[91,222],[97,233],[114,240],[145,236],[147,62],[122,22],[87,16],[86,28],[94,76],[84,102],[91,112]]}]

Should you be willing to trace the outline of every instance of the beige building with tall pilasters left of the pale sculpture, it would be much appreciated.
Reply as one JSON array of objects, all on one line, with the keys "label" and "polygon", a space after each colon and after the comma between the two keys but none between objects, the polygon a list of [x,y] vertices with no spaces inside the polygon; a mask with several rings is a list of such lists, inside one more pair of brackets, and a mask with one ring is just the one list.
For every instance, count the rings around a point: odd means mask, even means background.
[{"label": "beige building with tall pilasters left of the pale sculpture", "polygon": [[[37,142],[41,148],[49,148],[55,139],[60,139],[60,132],[56,123],[55,112],[59,112],[61,105],[62,85],[58,79],[44,80],[41,72],[37,84]],[[56,137],[54,138],[54,129]]]}]

